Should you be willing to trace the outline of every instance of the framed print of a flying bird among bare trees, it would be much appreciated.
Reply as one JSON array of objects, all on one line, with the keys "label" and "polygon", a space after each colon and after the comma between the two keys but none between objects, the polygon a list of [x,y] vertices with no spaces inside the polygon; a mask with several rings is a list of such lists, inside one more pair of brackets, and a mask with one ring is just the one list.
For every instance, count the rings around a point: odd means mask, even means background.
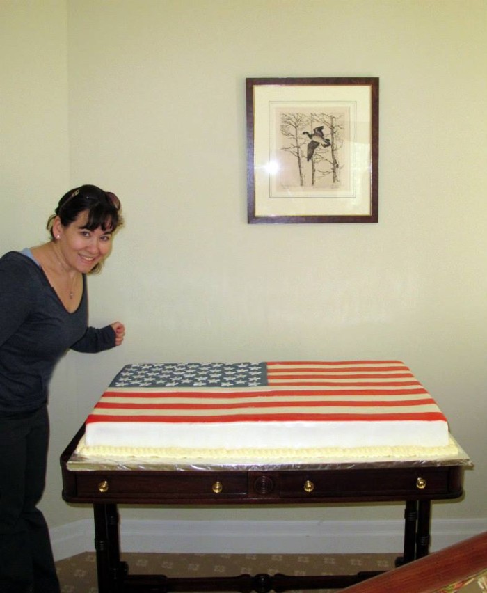
[{"label": "framed print of a flying bird among bare trees", "polygon": [[378,78],[248,78],[248,223],[378,221]]}]

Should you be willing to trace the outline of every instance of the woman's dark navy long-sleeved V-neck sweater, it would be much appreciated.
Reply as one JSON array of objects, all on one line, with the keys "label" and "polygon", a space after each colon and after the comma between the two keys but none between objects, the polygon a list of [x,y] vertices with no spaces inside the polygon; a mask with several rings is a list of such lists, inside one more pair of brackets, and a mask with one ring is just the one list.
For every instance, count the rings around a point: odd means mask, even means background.
[{"label": "woman's dark navy long-sleeved V-neck sweater", "polygon": [[0,258],[0,414],[38,409],[51,374],[69,348],[99,352],[115,346],[115,331],[88,327],[88,294],[69,313],[40,266],[10,251]]}]

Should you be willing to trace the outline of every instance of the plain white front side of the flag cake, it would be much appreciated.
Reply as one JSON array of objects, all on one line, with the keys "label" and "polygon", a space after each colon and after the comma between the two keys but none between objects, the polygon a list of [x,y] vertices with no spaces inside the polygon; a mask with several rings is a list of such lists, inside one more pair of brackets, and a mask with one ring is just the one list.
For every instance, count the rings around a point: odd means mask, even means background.
[{"label": "plain white front side of the flag cake", "polygon": [[183,449],[307,449],[383,446],[444,447],[448,425],[442,420],[360,422],[92,422],[88,447]]}]

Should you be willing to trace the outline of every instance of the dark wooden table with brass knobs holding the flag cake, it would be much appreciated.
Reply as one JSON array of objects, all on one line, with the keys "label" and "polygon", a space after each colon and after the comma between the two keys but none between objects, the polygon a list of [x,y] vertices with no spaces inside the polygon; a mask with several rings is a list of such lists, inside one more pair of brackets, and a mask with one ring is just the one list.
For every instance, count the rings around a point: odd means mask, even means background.
[{"label": "dark wooden table with brass knobs holding the flag cake", "polygon": [[[305,505],[308,503],[385,503],[404,501],[404,553],[397,564],[428,554],[431,501],[458,498],[462,455],[437,461],[383,461],[279,466],[184,468],[80,464],[74,450],[84,427],[61,456],[63,498],[90,503],[95,519],[99,593],[170,591],[284,592],[292,589],[343,588],[374,573],[334,576],[276,574],[234,577],[168,578],[130,575],[120,561],[118,505]],[[74,461],[73,461],[74,459]]]}]

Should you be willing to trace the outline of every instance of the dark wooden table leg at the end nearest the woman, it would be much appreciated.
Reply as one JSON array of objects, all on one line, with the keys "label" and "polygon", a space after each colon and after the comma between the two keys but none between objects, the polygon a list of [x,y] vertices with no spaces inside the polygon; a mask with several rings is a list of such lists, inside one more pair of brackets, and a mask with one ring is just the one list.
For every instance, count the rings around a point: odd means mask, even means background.
[{"label": "dark wooden table leg at the end nearest the woman", "polygon": [[126,564],[120,562],[117,505],[93,504],[99,593],[118,593]]}]

